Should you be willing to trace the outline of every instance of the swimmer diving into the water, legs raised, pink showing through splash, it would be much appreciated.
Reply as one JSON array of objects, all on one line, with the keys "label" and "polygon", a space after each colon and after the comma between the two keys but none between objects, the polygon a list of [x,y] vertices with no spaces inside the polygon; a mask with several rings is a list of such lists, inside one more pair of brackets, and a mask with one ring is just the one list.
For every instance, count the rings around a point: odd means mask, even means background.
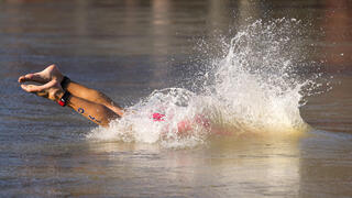
[{"label": "swimmer diving into the water, legs raised, pink showing through splash", "polygon": [[[106,128],[109,127],[110,121],[121,118],[125,113],[123,108],[105,94],[87,88],[64,76],[56,65],[51,65],[40,73],[20,76],[19,82],[26,92],[47,98],[63,107],[69,107],[88,120]],[[165,116],[155,112],[151,117],[154,121],[164,121]],[[197,116],[194,122],[209,128],[209,121],[200,116]],[[191,122],[189,120],[178,123],[179,134],[184,135],[190,131]]]}]

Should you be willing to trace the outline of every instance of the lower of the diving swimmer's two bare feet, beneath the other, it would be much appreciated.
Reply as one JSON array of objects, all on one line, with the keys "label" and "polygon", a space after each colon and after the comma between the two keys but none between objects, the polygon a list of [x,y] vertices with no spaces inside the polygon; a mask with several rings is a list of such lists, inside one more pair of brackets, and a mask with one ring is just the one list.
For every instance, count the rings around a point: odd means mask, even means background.
[{"label": "lower of the diving swimmer's two bare feet, beneath the other", "polygon": [[64,90],[62,86],[56,80],[51,80],[47,84],[44,84],[42,86],[21,85],[21,88],[26,92],[32,92],[40,97],[44,97],[53,101],[58,101],[64,95]]}]

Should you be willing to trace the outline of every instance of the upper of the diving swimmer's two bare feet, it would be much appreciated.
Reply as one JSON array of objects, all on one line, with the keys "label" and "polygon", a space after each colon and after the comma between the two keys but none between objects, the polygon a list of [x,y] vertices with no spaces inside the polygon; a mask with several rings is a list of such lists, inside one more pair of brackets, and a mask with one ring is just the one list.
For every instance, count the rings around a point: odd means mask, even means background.
[{"label": "upper of the diving swimmer's two bare feet", "polygon": [[40,73],[20,76],[19,82],[35,81],[38,84],[47,84],[52,80],[61,82],[63,78],[64,75],[58,70],[57,66],[51,65]]}]

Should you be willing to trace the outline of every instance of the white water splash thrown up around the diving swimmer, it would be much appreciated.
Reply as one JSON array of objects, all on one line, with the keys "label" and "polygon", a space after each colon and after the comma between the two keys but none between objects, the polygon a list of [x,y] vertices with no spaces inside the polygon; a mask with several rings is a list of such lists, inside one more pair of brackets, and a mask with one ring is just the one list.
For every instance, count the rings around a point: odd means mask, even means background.
[{"label": "white water splash thrown up around the diving swimmer", "polygon": [[[238,32],[227,52],[206,65],[190,91],[155,90],[128,108],[109,129],[95,129],[88,138],[106,141],[155,143],[167,147],[194,146],[211,135],[263,134],[302,131],[301,89],[315,77],[300,72],[309,66],[300,53],[299,22],[256,21]],[[201,85],[201,86],[199,86]],[[165,114],[154,121],[154,112]]]}]

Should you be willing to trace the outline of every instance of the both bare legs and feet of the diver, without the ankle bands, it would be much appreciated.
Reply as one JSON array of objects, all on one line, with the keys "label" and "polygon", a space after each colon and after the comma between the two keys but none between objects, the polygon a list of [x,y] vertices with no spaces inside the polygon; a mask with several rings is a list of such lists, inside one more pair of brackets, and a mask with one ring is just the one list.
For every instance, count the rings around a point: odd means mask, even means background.
[{"label": "both bare legs and feet of the diver, without the ankle bands", "polygon": [[[63,78],[64,76],[58,68],[51,65],[40,73],[21,76],[19,82],[35,81],[42,84],[40,86],[22,84],[21,87],[28,92],[58,101],[64,95],[61,87]],[[97,124],[107,127],[111,120],[123,114],[122,108],[97,90],[74,81],[68,84],[67,90],[72,94],[67,106]]]}]

